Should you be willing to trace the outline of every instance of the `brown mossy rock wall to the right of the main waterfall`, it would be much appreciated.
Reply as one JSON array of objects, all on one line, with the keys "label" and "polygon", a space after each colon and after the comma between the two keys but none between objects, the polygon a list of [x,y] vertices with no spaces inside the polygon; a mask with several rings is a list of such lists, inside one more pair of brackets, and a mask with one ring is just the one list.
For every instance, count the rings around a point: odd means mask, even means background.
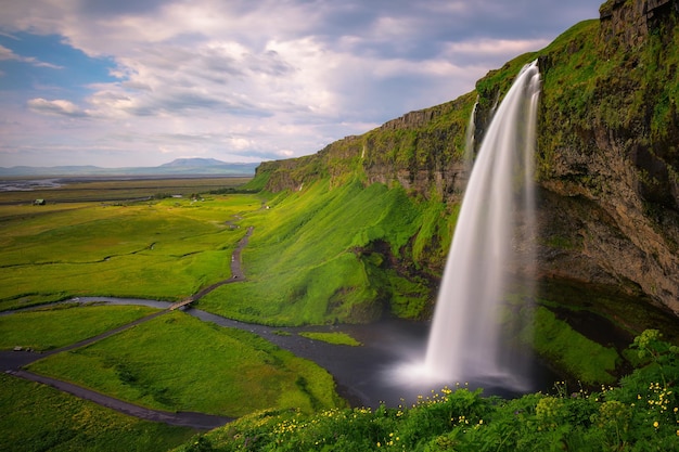
[{"label": "brown mossy rock wall to the right of the main waterfall", "polygon": [[[568,244],[551,256],[543,249],[541,269],[644,294],[675,313],[679,92],[670,49],[678,12],[671,0],[604,4],[597,56],[613,64],[592,76],[589,89],[569,93],[584,98],[577,112],[552,98],[552,68],[546,67],[539,140],[547,163],[540,175],[545,242]],[[555,143],[550,135],[569,139]]]}]

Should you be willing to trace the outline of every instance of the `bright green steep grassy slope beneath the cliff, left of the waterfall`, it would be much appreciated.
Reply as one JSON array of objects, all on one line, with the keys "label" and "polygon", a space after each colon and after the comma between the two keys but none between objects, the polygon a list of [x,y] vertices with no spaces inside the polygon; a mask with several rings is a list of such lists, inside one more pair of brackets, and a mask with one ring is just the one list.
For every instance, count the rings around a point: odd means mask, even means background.
[{"label": "bright green steep grassy slope beneath the cliff, left of the waterfall", "polygon": [[201,308],[270,324],[367,322],[393,297],[426,299],[426,286],[386,270],[373,249],[383,242],[400,256],[420,228],[422,208],[402,189],[356,180],[331,189],[323,179],[270,207],[246,218],[248,282],[213,292]]}]

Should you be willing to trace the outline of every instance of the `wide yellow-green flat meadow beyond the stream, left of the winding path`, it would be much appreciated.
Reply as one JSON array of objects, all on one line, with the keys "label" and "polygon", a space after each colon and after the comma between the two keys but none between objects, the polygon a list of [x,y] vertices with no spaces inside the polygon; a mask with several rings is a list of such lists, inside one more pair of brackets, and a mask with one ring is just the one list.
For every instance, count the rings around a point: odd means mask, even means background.
[{"label": "wide yellow-green flat meadow beyond the stream, left of the winding path", "polygon": [[0,206],[0,310],[74,296],[177,300],[231,276],[255,195]]}]

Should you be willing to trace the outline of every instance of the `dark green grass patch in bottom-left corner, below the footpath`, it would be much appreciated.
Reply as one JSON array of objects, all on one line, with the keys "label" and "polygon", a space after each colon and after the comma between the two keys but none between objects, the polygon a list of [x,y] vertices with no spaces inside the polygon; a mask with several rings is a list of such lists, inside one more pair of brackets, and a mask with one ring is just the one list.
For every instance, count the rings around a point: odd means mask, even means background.
[{"label": "dark green grass patch in bottom-left corner, below the footpath", "polygon": [[195,430],[126,416],[46,385],[0,374],[0,450],[164,452]]}]

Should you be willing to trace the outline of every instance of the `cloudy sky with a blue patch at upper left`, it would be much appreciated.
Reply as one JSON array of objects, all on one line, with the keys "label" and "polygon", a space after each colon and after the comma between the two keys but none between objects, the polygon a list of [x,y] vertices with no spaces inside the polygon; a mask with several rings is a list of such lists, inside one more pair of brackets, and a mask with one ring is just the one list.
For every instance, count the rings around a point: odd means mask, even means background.
[{"label": "cloudy sky with a blue patch at upper left", "polygon": [[315,153],[603,0],[0,0],[0,167]]}]

